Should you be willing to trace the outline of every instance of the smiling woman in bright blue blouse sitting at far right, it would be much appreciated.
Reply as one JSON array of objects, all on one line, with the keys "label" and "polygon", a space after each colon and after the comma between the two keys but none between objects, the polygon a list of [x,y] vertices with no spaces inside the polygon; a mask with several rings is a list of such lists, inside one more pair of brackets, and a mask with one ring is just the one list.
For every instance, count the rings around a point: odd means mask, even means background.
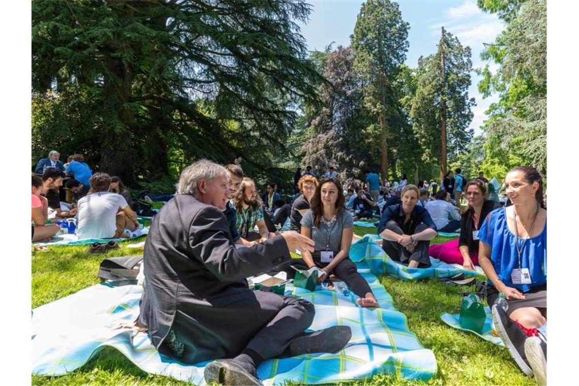
[{"label": "smiling woman in bright blue blouse sitting at far right", "polygon": [[[483,222],[478,260],[489,278],[495,328],[519,367],[532,375],[533,361],[525,355],[527,337],[541,337],[541,355],[545,361],[547,357],[547,211],[541,208],[543,183],[536,169],[512,169],[505,186],[512,205],[495,209]],[[499,292],[507,299],[506,312],[494,305]]]}]

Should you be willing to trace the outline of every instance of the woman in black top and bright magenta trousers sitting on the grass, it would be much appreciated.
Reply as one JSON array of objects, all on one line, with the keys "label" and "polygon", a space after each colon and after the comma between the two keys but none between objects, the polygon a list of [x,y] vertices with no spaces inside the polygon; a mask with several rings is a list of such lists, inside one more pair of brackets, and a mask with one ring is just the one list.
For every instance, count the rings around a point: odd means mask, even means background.
[{"label": "woman in black top and bright magenta trousers sitting on the grass", "polygon": [[464,269],[474,271],[478,265],[478,229],[483,220],[499,203],[485,200],[485,184],[474,179],[465,188],[468,208],[460,216],[460,237],[444,244],[434,244],[428,254],[449,264],[461,264]]}]

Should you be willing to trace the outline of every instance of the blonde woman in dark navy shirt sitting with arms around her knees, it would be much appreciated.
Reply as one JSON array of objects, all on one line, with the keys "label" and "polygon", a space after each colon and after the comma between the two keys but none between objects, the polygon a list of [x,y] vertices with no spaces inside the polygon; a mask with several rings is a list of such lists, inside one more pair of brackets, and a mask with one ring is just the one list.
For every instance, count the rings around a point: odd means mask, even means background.
[{"label": "blonde woman in dark navy shirt sitting with arms around her knees", "polygon": [[415,185],[406,185],[402,203],[384,208],[378,225],[384,252],[394,261],[408,263],[409,268],[430,267],[428,245],[438,234],[428,211],[416,205],[418,195]]}]

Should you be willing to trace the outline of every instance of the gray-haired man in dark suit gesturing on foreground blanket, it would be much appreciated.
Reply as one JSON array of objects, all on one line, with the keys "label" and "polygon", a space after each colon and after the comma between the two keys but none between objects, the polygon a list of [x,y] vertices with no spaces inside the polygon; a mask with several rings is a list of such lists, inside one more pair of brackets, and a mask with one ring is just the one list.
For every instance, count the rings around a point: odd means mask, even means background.
[{"label": "gray-haired man in dark suit gesturing on foreground blanket", "polygon": [[145,244],[145,291],[138,326],[162,354],[206,366],[207,383],[259,385],[256,367],[282,355],[341,350],[345,326],[306,334],[314,317],[304,299],[251,291],[245,277],[313,251],[294,231],[235,248],[223,210],[229,172],[200,160],[181,173],[175,198],[153,218]]}]

